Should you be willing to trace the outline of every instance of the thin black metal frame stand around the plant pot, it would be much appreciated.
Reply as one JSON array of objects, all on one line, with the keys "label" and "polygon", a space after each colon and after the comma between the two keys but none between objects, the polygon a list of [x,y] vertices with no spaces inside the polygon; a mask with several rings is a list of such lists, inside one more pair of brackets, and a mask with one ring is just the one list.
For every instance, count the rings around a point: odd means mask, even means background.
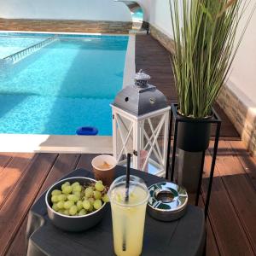
[{"label": "thin black metal frame stand around the plant pot", "polygon": [[[193,122],[193,119],[183,119],[182,116],[179,116],[177,114],[177,104],[171,105],[171,120],[170,120],[170,128],[169,128],[169,138],[168,138],[168,148],[167,148],[167,165],[166,165],[166,179],[169,177],[169,170],[170,170],[170,153],[171,153],[171,139],[172,139],[172,122],[174,118],[174,137],[173,137],[173,150],[172,150],[172,166],[171,166],[171,181],[173,182],[173,176],[174,176],[174,166],[175,166],[175,155],[176,155],[176,149],[177,149],[177,128],[178,124],[181,122]],[[215,141],[214,141],[214,148],[213,148],[213,155],[212,155],[212,165],[211,165],[211,171],[210,171],[210,177],[209,177],[209,184],[207,189],[207,200],[205,204],[205,216],[207,217],[208,213],[208,207],[211,197],[211,191],[212,191],[212,179],[213,179],[213,173],[214,173],[214,167],[217,157],[217,151],[218,151],[218,139],[219,139],[219,132],[220,132],[220,126],[221,126],[221,119],[218,117],[218,113],[212,108],[212,119],[201,119],[200,121],[196,120],[196,122],[201,123],[211,123],[216,124],[216,132],[215,132]],[[201,181],[202,181],[202,175],[203,175],[203,169],[204,169],[204,163],[205,163],[205,155],[206,151],[204,150],[202,152],[202,159],[201,159],[201,170],[200,170],[200,177],[195,197],[195,205],[198,206],[199,196],[201,193]]]}]

